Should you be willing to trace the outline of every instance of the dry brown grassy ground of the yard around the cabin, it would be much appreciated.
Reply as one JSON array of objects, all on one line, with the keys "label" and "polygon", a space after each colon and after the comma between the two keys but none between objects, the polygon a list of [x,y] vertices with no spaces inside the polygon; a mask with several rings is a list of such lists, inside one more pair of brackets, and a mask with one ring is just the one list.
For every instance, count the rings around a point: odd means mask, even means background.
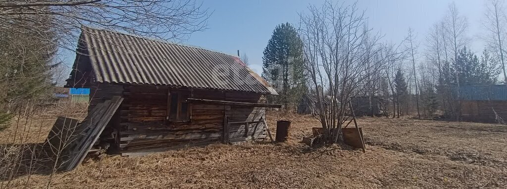
[{"label": "dry brown grassy ground of the yard around the cabin", "polygon": [[[55,188],[507,188],[507,126],[361,118],[367,152],[301,143],[318,122],[292,121],[285,143],[212,144],[144,157],[89,158],[51,177]],[[48,124],[48,127],[52,123]],[[49,129],[48,129],[49,130]],[[21,176],[2,188],[46,187],[49,175]]]}]

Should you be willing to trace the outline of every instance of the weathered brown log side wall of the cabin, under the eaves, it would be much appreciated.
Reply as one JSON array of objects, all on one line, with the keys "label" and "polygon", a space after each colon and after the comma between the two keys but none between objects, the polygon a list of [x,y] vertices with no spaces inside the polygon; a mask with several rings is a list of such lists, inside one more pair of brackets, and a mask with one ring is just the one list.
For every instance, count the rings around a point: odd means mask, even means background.
[{"label": "weathered brown log side wall of the cabin, under the eaves", "polygon": [[[179,90],[179,89],[178,89]],[[190,104],[190,122],[168,122],[168,87],[141,85],[103,85],[91,89],[97,97],[90,106],[108,96],[124,97],[114,124],[110,125],[122,155],[142,155],[167,149],[200,146],[224,141],[224,122],[228,117],[229,141],[266,138],[266,127],[260,122],[266,109],[230,105]],[[192,98],[266,103],[260,94],[194,89]],[[248,122],[237,123],[237,122]]]}]

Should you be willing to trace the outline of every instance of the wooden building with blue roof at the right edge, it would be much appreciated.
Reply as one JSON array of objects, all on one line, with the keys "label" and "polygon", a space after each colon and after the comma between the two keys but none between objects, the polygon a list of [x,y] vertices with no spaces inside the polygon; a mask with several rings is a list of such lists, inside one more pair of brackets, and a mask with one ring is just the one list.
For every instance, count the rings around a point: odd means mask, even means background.
[{"label": "wooden building with blue roof at the right edge", "polygon": [[463,121],[507,120],[507,85],[462,86],[459,99]]}]

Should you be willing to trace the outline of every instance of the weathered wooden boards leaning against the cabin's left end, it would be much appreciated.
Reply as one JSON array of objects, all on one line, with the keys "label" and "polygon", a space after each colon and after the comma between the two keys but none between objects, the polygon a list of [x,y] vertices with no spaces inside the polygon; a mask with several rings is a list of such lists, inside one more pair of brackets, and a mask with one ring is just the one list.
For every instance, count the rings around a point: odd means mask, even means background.
[{"label": "weathered wooden boards leaning against the cabin's left end", "polygon": [[53,156],[57,171],[70,171],[83,162],[122,101],[122,97],[114,96],[97,104],[81,123],[64,117],[56,120],[48,135],[46,150],[50,150],[47,154]]}]

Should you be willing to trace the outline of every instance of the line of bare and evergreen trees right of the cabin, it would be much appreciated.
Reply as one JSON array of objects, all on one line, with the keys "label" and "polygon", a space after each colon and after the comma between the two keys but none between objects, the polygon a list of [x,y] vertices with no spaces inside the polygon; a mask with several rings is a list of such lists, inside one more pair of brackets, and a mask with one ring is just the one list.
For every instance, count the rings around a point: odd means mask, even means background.
[{"label": "line of bare and evergreen trees right of the cabin", "polygon": [[[459,120],[457,88],[507,84],[506,7],[499,0],[485,3],[487,32],[478,39],[468,37],[467,18],[451,3],[424,37],[423,47],[411,28],[402,42],[382,42],[356,4],[310,6],[298,25],[277,25],[264,50],[262,76],[280,94],[270,100],[294,109],[307,93],[332,96],[339,104],[353,96],[380,97],[387,99],[383,105],[389,117]],[[474,40],[486,42],[480,54],[470,50]],[[334,111],[343,110],[320,114]],[[334,122],[322,115],[321,121]]]}]

